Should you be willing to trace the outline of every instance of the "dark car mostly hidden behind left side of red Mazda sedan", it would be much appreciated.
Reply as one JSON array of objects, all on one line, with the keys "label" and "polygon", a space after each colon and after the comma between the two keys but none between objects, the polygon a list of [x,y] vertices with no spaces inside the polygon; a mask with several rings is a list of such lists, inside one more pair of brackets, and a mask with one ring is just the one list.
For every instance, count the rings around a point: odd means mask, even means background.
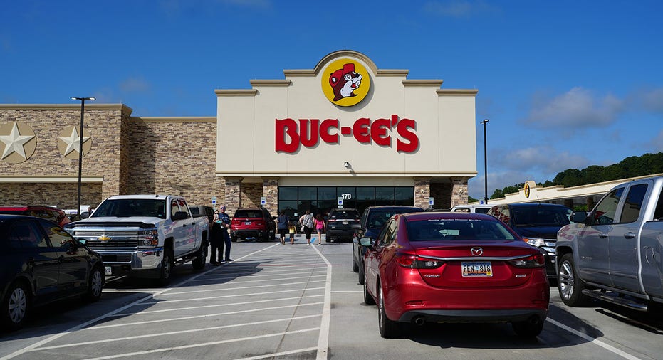
[{"label": "dark car mostly hidden behind left side of red Mazda sedan", "polygon": [[367,248],[359,243],[361,238],[377,238],[387,220],[397,213],[420,213],[416,206],[370,206],[362,214],[360,229],[353,238],[353,271],[359,272],[359,283],[364,283],[364,254]]}]

